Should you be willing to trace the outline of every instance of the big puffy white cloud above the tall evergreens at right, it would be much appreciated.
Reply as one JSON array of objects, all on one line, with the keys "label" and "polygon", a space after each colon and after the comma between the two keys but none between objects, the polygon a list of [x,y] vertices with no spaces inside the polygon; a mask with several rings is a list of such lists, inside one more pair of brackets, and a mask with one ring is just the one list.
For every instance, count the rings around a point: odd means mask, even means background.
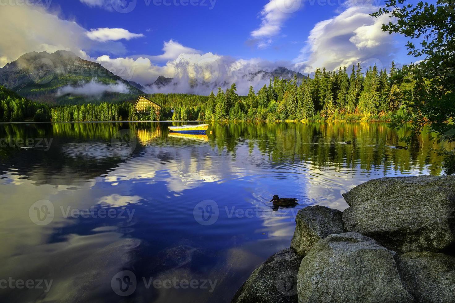
[{"label": "big puffy white cloud above the tall evergreens at right", "polygon": [[298,66],[306,65],[308,73],[315,68],[334,70],[356,63],[387,66],[396,45],[393,36],[381,31],[381,25],[388,23],[389,17],[369,15],[376,9],[373,5],[352,5],[339,15],[318,22],[294,62]]}]

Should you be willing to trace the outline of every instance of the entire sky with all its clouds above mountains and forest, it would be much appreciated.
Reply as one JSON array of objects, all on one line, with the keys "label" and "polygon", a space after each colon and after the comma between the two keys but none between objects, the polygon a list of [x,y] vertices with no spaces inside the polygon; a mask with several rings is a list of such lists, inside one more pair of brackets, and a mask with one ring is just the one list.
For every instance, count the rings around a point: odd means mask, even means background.
[{"label": "entire sky with all its clouds above mountains and forest", "polygon": [[389,18],[369,16],[384,5],[379,0],[8,1],[0,10],[0,67],[29,51],[65,49],[142,85],[161,75],[215,85],[277,66],[307,74],[412,60],[404,37],[380,30]]}]

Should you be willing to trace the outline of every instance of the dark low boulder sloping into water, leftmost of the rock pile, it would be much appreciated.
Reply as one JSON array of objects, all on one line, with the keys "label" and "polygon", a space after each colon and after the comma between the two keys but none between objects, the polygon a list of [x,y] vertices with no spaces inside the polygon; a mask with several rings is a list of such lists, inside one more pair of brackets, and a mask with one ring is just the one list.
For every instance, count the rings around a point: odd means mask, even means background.
[{"label": "dark low boulder sloping into water, leftmost of the rock pile", "polygon": [[232,302],[297,302],[297,272],[301,260],[290,248],[269,257],[238,289]]}]

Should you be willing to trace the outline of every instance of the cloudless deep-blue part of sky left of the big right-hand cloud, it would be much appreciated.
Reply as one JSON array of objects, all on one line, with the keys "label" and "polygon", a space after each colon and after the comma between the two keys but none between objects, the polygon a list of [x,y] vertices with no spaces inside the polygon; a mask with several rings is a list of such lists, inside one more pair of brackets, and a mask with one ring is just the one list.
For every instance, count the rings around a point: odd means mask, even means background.
[{"label": "cloudless deep-blue part of sky left of the big right-hand cloud", "polygon": [[145,37],[142,39],[123,42],[127,45],[128,55],[158,55],[162,43],[174,39],[203,52],[211,51],[238,58],[259,56],[278,61],[292,60],[303,47],[314,24],[335,15],[339,7],[338,4],[325,7],[302,4],[305,8],[284,22],[282,33],[274,37],[273,45],[258,49],[248,40],[251,31],[261,24],[260,12],[268,3],[267,0],[197,2],[201,5],[157,6],[153,5],[153,1],[146,5],[146,0],[138,0],[136,8],[125,14],[101,6],[89,8],[77,0],[53,0],[51,8],[60,9],[66,19],[74,18],[86,29],[124,28],[133,33],[143,33]]}]

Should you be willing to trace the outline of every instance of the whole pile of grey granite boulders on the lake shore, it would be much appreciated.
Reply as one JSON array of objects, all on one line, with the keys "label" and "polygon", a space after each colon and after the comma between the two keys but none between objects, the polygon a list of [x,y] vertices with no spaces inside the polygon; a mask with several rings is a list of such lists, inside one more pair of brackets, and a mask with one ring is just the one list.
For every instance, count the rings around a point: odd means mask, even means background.
[{"label": "whole pile of grey granite boulders on the lake shore", "polygon": [[231,302],[455,302],[455,176],[372,179],[343,197],[344,212],[299,210],[290,247]]}]

